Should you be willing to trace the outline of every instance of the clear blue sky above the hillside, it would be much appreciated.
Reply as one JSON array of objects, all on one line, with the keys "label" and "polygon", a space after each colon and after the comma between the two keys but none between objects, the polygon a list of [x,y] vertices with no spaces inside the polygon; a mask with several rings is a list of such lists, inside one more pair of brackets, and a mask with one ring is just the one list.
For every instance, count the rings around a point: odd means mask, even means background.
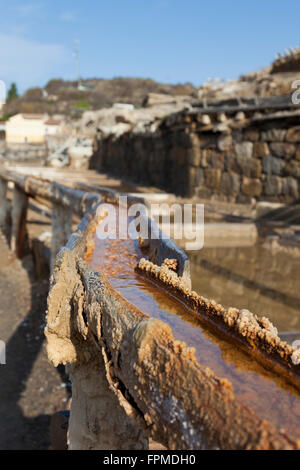
[{"label": "clear blue sky above the hillside", "polygon": [[237,78],[300,45],[300,2],[0,0],[0,80],[24,91],[82,77]]}]

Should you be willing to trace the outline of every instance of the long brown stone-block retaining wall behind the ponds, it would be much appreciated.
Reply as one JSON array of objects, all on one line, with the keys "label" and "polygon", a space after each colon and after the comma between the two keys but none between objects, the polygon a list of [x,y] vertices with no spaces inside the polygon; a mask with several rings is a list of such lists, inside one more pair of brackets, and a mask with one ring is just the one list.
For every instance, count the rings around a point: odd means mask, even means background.
[{"label": "long brown stone-block retaining wall behind the ponds", "polygon": [[152,133],[99,139],[90,166],[186,197],[297,199],[299,112],[231,114],[178,113]]}]

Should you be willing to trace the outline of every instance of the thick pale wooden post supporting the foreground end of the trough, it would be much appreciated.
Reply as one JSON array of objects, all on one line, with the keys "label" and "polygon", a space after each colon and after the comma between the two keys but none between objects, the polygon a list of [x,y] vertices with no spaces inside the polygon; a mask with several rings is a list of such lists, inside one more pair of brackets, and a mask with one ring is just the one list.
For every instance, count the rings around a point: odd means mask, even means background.
[{"label": "thick pale wooden post supporting the foreground end of the trough", "polygon": [[[139,422],[110,390],[101,353],[68,367],[72,381],[69,450],[147,450]],[[130,408],[130,406],[129,406]]]}]

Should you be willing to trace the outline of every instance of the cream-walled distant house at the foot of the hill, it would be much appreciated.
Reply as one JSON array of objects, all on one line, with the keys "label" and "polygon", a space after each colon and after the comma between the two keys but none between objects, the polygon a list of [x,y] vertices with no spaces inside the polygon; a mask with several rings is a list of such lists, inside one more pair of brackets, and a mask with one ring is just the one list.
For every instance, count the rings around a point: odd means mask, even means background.
[{"label": "cream-walled distant house at the foot of the hill", "polygon": [[42,144],[47,135],[60,133],[61,120],[47,114],[16,114],[6,123],[8,144]]}]

